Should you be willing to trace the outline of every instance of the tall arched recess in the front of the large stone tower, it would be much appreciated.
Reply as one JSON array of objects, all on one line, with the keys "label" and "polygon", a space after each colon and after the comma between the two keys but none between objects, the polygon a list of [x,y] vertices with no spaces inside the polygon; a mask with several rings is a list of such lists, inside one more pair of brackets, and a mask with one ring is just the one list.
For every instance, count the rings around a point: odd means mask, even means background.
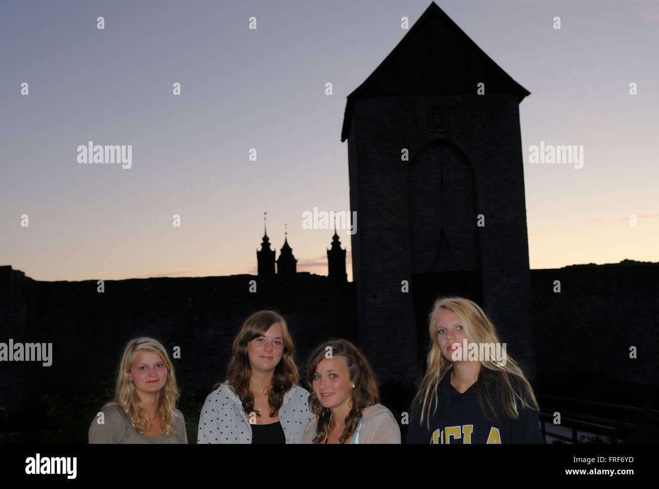
[{"label": "tall arched recess in the front of the large stone tower", "polygon": [[426,144],[410,161],[407,196],[417,360],[423,372],[433,302],[452,295],[482,301],[478,199],[469,158],[444,139]]}]

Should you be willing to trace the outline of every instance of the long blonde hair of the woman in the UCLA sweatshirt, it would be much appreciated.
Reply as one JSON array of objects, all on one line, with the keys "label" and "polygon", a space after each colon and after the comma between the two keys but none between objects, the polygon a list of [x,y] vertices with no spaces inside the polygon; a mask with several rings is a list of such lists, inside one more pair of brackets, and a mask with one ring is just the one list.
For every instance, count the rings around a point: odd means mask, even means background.
[{"label": "long blonde hair of the woman in the UCLA sweatshirt", "polygon": [[[430,411],[434,407],[432,411],[434,413],[438,408],[437,389],[444,376],[453,368],[453,364],[442,354],[437,337],[437,322],[441,309],[451,310],[455,313],[469,343],[500,343],[494,324],[476,302],[463,297],[440,297],[435,301],[432,312],[428,316],[428,332],[432,345],[428,353],[428,370],[413,401],[413,411],[416,410],[419,413],[419,424],[422,424],[426,418],[428,429],[430,429]],[[485,369],[492,373],[494,380],[494,382],[478,382],[478,403],[487,418],[490,418],[488,411],[496,417],[494,409],[496,393],[500,397],[503,412],[511,419],[519,418],[519,405],[538,410],[538,401],[536,401],[529,381],[510,355],[506,354],[506,361],[503,365],[495,359],[479,361],[481,366],[478,380],[482,379],[486,372]],[[494,392],[492,392],[492,388],[494,388]]]}]

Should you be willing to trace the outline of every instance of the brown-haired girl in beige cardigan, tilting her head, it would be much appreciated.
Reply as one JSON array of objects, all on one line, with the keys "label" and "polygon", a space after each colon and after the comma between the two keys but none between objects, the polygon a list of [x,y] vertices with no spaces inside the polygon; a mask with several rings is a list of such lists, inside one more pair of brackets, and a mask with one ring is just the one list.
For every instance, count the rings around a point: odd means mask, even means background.
[{"label": "brown-haired girl in beige cardigan, tilting her head", "polygon": [[345,339],[331,340],[311,354],[307,380],[316,417],[304,430],[305,444],[399,444],[401,430],[380,401],[366,357]]}]

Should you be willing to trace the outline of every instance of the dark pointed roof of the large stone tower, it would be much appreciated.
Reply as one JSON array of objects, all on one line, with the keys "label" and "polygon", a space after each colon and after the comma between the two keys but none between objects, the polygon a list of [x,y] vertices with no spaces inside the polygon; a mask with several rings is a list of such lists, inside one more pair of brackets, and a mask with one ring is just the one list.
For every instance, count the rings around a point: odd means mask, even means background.
[{"label": "dark pointed roof of the large stone tower", "polygon": [[341,141],[350,133],[355,100],[397,95],[512,94],[521,102],[529,90],[515,82],[438,7],[430,7],[393,51],[357,90],[348,96]]}]

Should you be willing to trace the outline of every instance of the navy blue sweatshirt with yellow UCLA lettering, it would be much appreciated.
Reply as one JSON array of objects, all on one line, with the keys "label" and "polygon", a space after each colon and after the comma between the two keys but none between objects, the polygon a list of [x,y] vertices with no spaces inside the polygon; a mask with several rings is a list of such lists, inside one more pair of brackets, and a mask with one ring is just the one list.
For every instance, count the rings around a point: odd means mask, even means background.
[{"label": "navy blue sweatshirt with yellow UCLA lettering", "polygon": [[[517,399],[519,418],[507,417],[501,405],[501,394],[496,389],[495,376],[490,370],[484,369],[476,383],[464,393],[459,393],[451,384],[451,370],[440,382],[438,387],[437,410],[434,403],[430,409],[430,430],[426,428],[426,418],[419,424],[419,406],[415,406],[407,431],[407,443],[436,444],[511,444],[511,443],[542,443],[540,422],[535,409],[524,408]],[[512,382],[518,393],[522,384]],[[479,390],[487,389],[492,399],[494,413],[483,400],[488,417],[483,413],[478,402]],[[525,399],[530,403],[528,394]],[[434,401],[434,399],[433,399]]]}]

